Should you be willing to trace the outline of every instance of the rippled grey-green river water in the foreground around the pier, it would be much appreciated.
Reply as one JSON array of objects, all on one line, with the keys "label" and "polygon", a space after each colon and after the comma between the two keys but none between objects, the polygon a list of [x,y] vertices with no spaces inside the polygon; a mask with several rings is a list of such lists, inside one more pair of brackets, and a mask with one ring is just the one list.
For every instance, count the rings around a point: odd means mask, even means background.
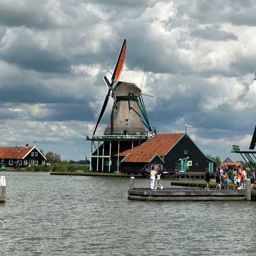
[{"label": "rippled grey-green river water in the foreground around the pier", "polygon": [[0,175],[0,255],[256,255],[256,202],[130,201],[127,178]]}]

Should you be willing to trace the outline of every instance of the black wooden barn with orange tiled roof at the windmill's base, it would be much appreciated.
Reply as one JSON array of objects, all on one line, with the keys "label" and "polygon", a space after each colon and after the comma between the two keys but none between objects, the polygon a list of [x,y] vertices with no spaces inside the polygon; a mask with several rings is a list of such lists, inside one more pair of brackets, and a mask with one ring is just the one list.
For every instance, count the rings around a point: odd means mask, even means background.
[{"label": "black wooden barn with orange tiled roof at the windmill's base", "polygon": [[216,169],[216,162],[206,157],[184,133],[157,134],[147,140],[133,141],[133,146],[130,140],[117,138],[117,141],[112,140],[111,149],[110,142],[104,140],[104,145],[102,143],[98,148],[99,150],[95,150],[91,158],[93,172],[118,171],[143,174],[148,165],[158,163],[163,165],[167,172],[176,173],[179,159],[186,157],[189,157],[190,163],[186,172],[204,173],[205,168],[209,168],[210,172]]}]

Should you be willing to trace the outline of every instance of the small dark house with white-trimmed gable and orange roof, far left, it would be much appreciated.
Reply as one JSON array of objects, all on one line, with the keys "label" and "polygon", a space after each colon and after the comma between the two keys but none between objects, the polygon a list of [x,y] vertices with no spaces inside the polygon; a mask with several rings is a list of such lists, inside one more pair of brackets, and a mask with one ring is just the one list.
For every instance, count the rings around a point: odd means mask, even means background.
[{"label": "small dark house with white-trimmed gable and orange roof, far left", "polygon": [[46,162],[46,157],[35,146],[0,146],[0,163],[6,167],[23,168]]}]

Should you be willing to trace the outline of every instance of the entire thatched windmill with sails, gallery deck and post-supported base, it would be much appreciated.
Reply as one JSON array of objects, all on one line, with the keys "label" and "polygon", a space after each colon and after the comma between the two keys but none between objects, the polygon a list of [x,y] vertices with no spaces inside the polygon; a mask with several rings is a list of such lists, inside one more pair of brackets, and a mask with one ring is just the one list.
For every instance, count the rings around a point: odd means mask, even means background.
[{"label": "entire thatched windmill with sails, gallery deck and post-supported base", "polygon": [[[141,90],[134,83],[119,81],[125,50],[126,39],[123,40],[111,78],[109,79],[106,75],[103,77],[109,90],[104,99],[93,136],[87,136],[87,140],[91,141],[90,170],[92,171],[111,172],[117,170],[118,172],[120,159],[123,157],[119,156],[119,153],[133,148],[154,134],[148,121]],[[110,96],[114,100],[110,121],[103,135],[95,136]]]}]

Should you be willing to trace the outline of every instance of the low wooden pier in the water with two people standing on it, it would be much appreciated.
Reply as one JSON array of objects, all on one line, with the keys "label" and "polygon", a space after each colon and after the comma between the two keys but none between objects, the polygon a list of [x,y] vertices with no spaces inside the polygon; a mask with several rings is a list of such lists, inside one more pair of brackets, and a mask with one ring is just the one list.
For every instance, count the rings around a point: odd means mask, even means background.
[{"label": "low wooden pier in the water with two people standing on it", "polygon": [[135,188],[131,178],[128,199],[141,201],[256,201],[256,190],[250,188],[250,180],[246,181],[246,189],[205,189],[205,188]]}]

